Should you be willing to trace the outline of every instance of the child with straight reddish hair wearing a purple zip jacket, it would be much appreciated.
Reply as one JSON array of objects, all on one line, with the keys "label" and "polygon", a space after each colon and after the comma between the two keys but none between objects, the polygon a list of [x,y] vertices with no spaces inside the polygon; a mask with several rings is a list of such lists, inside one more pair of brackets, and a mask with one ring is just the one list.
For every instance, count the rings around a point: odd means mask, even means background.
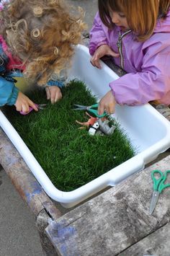
[{"label": "child with straight reddish hair wearing a purple zip jacket", "polygon": [[100,69],[99,59],[110,56],[128,73],[110,82],[110,91],[99,102],[99,115],[115,112],[116,103],[170,105],[170,0],[98,4],[90,32],[91,64]]}]

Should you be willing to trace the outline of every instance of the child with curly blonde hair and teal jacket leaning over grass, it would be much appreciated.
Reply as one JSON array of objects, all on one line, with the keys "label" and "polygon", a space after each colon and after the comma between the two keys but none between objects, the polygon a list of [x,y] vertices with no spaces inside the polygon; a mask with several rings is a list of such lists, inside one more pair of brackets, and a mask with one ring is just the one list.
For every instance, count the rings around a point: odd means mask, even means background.
[{"label": "child with curly blonde hair and teal jacket leaning over grass", "polygon": [[37,110],[14,84],[13,77],[21,73],[45,87],[52,103],[61,99],[63,76],[84,30],[81,17],[82,12],[79,17],[71,15],[61,0],[4,3],[0,12],[0,106]]}]

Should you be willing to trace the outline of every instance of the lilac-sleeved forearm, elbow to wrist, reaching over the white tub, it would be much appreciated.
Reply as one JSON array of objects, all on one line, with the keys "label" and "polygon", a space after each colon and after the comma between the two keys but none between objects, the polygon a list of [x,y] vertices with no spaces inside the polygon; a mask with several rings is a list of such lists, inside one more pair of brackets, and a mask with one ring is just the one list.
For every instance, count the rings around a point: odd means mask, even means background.
[{"label": "lilac-sleeved forearm, elbow to wrist, reaching over the white tub", "polygon": [[152,100],[164,99],[168,92],[165,91],[166,82],[168,83],[162,76],[156,77],[154,73],[147,71],[125,74],[120,79],[112,81],[109,87],[118,104],[144,105]]}]

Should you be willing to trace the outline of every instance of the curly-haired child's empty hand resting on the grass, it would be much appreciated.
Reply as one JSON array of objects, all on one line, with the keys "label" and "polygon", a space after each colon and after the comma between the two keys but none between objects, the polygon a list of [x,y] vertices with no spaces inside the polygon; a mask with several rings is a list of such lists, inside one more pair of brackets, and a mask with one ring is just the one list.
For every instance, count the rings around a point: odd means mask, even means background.
[{"label": "curly-haired child's empty hand resting on the grass", "polygon": [[61,100],[62,94],[61,89],[57,86],[45,87],[45,91],[47,94],[47,99],[50,100],[52,104]]}]

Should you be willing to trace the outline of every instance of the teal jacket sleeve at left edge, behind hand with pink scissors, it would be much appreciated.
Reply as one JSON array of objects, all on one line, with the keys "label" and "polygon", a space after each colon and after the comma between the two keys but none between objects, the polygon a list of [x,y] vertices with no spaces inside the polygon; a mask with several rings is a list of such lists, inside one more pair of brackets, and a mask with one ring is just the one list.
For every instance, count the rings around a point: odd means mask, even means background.
[{"label": "teal jacket sleeve at left edge, behind hand with pink scissors", "polygon": [[18,92],[19,90],[12,81],[7,81],[4,77],[0,76],[0,106],[14,105]]}]

